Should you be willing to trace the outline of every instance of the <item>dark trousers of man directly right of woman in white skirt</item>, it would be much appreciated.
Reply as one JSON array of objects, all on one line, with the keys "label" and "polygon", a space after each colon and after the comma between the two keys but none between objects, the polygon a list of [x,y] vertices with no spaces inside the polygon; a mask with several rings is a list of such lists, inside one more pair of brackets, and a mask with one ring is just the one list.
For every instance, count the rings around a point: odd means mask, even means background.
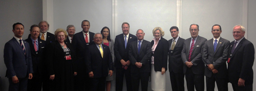
[{"label": "dark trousers of man directly right of woman in white skirt", "polygon": [[184,91],[184,74],[170,72],[170,83],[173,91]]}]

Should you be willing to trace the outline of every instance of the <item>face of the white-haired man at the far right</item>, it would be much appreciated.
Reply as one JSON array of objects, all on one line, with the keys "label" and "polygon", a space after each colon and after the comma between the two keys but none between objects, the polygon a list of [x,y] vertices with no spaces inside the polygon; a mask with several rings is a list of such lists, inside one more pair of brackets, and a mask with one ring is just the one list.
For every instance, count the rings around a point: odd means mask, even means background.
[{"label": "face of the white-haired man at the far right", "polygon": [[240,26],[233,28],[233,37],[237,41],[244,37],[245,31],[242,31],[242,28]]}]

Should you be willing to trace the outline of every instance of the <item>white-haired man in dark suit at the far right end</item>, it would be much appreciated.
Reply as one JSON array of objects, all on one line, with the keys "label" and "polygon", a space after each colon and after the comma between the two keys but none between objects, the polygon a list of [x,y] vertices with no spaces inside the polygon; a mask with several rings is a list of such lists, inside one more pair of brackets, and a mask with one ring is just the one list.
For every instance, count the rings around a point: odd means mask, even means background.
[{"label": "white-haired man in dark suit at the far right end", "polygon": [[234,41],[230,43],[228,57],[228,79],[233,90],[252,90],[254,46],[244,38],[245,28],[234,26]]}]

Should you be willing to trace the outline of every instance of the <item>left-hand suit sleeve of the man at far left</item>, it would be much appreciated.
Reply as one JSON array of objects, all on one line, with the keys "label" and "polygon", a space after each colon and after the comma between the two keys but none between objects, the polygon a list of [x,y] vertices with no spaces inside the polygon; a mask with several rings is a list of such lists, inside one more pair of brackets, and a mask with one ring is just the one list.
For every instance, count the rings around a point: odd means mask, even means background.
[{"label": "left-hand suit sleeve of the man at far left", "polygon": [[13,52],[12,45],[9,42],[7,42],[5,44],[5,49],[4,49],[4,61],[5,61],[5,65],[7,67],[7,73],[6,74],[8,74],[7,75],[8,78],[16,76],[16,73],[13,69],[13,64],[12,64],[12,60],[13,60],[12,59],[12,57],[13,57],[12,52]]}]

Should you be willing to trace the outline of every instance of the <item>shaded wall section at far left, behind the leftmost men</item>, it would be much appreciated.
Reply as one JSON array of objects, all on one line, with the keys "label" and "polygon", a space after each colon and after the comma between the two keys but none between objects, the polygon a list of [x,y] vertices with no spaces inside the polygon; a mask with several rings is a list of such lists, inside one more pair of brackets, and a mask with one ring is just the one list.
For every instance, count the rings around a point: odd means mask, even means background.
[{"label": "shaded wall section at far left, behind the leftmost men", "polygon": [[4,46],[13,36],[12,25],[21,22],[24,25],[23,39],[27,39],[31,25],[38,25],[42,20],[42,1],[0,1],[0,90],[6,91],[9,87],[4,63]]}]

